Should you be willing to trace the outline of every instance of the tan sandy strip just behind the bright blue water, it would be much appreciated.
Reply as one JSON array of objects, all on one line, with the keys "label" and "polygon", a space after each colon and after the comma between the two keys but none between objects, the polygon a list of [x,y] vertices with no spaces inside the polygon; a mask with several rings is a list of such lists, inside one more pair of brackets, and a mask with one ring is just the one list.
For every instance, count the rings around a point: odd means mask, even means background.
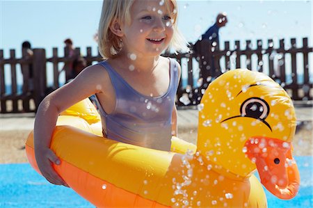
[{"label": "tan sandy strip just behind the bright blue water", "polygon": [[[29,130],[0,131],[0,163],[26,163],[24,143]],[[196,143],[196,129],[179,129],[179,138]],[[297,127],[294,138],[294,155],[312,156],[312,122],[303,122]]]}]

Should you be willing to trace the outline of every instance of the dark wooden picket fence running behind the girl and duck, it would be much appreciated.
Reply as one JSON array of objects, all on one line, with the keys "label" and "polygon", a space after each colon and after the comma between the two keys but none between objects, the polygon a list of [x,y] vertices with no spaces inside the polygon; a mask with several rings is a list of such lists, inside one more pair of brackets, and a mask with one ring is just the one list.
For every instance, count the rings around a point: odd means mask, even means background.
[{"label": "dark wooden picket fence running behind the girl and duck", "polygon": [[[102,60],[99,54],[93,56],[91,51],[91,47],[87,47],[86,56],[83,56],[87,65]],[[65,67],[65,72],[69,72],[66,63],[73,61],[73,58],[67,57],[66,49],[64,54],[65,56],[59,57],[58,49],[54,48],[51,58],[47,58],[45,49],[33,49],[32,58],[16,58],[15,50],[11,49],[10,58],[3,58],[3,49],[1,49],[0,113],[35,112],[49,90],[59,87],[61,67]],[[81,54],[79,48],[76,49],[76,54]],[[181,63],[182,74],[186,79],[181,79],[179,83],[178,106],[198,104],[204,89],[215,77],[239,67],[268,74],[278,81],[294,100],[312,99],[313,63],[309,61],[312,60],[312,47],[308,47],[307,38],[303,38],[301,47],[297,47],[295,38],[290,42],[280,40],[278,47],[275,47],[273,40],[268,40],[265,44],[262,40],[257,40],[256,47],[252,46],[250,40],[246,40],[244,44],[235,41],[234,47],[230,47],[230,42],[225,42],[224,49],[212,48],[208,42],[202,41],[197,53],[193,51],[191,45],[191,53],[168,55]],[[215,69],[211,68],[212,62]],[[47,86],[47,65],[52,65],[53,68],[53,86]],[[18,67],[22,71],[21,89],[17,84]],[[32,83],[29,82],[30,67],[33,69]],[[10,75],[8,76],[7,73]],[[8,81],[6,77],[10,77],[10,85],[6,84]]]}]

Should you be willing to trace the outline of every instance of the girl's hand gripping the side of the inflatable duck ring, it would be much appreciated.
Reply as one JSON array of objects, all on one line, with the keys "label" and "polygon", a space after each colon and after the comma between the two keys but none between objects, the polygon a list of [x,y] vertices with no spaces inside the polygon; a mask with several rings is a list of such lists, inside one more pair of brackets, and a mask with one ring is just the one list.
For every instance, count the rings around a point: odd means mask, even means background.
[{"label": "girl's hand gripping the side of the inflatable duck ring", "polygon": [[40,173],[45,177],[51,184],[63,185],[69,187],[65,181],[56,173],[54,168],[52,168],[52,163],[57,166],[61,164],[61,161],[56,157],[56,154],[49,149],[45,148],[43,150],[35,151],[35,158],[37,161]]}]

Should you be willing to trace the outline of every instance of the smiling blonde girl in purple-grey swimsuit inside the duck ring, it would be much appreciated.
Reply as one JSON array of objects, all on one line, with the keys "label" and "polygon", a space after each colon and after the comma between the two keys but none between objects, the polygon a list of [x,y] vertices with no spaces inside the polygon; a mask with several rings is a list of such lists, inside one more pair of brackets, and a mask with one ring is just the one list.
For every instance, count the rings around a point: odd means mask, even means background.
[{"label": "smiling blonde girl in purple-grey swimsuit inside the duck ring", "polygon": [[177,134],[175,95],[180,66],[160,56],[186,49],[177,31],[175,0],[104,0],[99,51],[105,61],[86,67],[73,81],[45,97],[35,118],[35,158],[44,177],[67,184],[51,163],[49,149],[59,113],[95,94],[104,137],[157,150],[170,150]]}]

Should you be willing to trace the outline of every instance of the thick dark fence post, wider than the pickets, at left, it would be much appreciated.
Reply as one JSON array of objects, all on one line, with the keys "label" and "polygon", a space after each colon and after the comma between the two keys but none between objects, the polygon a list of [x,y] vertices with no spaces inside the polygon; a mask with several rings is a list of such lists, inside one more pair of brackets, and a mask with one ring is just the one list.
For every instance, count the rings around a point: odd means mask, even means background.
[{"label": "thick dark fence post, wider than the pickets, at left", "polygon": [[45,49],[33,49],[34,99],[36,110],[45,97],[45,90],[47,88],[46,71]]}]

